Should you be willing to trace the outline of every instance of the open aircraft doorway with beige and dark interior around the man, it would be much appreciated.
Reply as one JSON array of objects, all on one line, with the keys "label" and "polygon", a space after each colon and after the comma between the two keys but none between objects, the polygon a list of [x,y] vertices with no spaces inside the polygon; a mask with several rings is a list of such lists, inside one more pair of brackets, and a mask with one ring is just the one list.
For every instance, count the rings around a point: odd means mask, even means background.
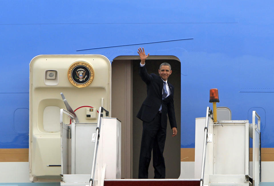
[{"label": "open aircraft doorway with beige and dark interior around the man", "polygon": [[[164,150],[166,178],[180,176],[181,144],[181,63],[176,56],[149,56],[146,60],[148,73],[158,74],[161,63],[168,62],[172,74],[168,81],[175,87],[174,107],[178,134],[171,137],[172,130],[168,122]],[[142,121],[136,115],[146,98],[146,84],[138,75],[139,56],[118,56],[112,62],[111,112],[122,123],[121,175],[122,178],[138,178],[138,163],[142,138]],[[152,160],[148,178],[154,177]]]}]

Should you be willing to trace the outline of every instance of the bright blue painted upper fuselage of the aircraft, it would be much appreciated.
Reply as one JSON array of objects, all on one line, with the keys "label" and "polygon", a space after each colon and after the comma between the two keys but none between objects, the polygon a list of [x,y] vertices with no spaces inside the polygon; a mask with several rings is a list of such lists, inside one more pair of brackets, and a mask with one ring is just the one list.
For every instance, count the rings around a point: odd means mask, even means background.
[{"label": "bright blue painted upper fuselage of the aircraft", "polygon": [[233,120],[251,120],[251,109],[259,108],[262,148],[274,148],[273,2],[145,4],[1,1],[0,148],[28,148],[29,62],[34,56],[102,54],[111,61],[138,55],[140,43],[146,43],[141,47],[150,55],[174,55],[181,61],[181,148],[195,147],[195,118],[204,117],[211,106],[211,88],[218,88],[217,106],[229,107]]}]

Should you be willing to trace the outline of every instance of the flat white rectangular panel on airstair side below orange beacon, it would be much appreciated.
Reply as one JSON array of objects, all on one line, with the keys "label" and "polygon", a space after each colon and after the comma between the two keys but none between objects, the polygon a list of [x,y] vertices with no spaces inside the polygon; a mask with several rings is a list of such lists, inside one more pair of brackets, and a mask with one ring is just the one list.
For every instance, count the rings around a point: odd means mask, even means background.
[{"label": "flat white rectangular panel on airstair side below orange beacon", "polygon": [[214,126],[214,174],[245,174],[245,125]]}]

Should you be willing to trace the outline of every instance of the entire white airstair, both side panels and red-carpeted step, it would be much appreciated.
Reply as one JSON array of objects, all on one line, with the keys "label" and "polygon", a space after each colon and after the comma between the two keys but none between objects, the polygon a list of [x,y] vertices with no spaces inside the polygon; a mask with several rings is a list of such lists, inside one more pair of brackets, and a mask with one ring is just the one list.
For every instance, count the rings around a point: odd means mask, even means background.
[{"label": "entire white airstair, both side panels and red-carpeted step", "polygon": [[[202,154],[202,161],[195,162],[195,168],[198,167],[195,172],[200,170],[201,179],[120,179],[120,122],[116,118],[108,118],[108,111],[102,107],[99,108],[97,124],[76,123],[72,113],[61,109],[61,185],[259,185],[259,115],[253,111],[252,123],[248,120],[220,120],[214,123],[209,107],[206,112],[207,117],[196,118],[196,127],[204,129],[204,135],[201,135],[202,132],[196,132],[196,136],[204,136],[200,143],[196,139],[196,154],[201,150],[199,145],[203,147],[202,153],[199,153]],[[72,119],[71,124],[63,122],[64,113]],[[90,139],[83,136],[90,136]],[[253,144],[251,162],[250,138]],[[94,148],[88,148],[90,144],[94,145]],[[91,168],[88,166],[90,163]],[[89,172],[91,173],[88,174]]]}]

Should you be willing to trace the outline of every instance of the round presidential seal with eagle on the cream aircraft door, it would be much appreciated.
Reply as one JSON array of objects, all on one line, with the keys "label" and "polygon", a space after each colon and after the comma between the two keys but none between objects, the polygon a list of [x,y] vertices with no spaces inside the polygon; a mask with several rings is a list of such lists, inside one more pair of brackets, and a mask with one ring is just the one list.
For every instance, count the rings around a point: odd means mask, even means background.
[{"label": "round presidential seal with eagle on the cream aircraft door", "polygon": [[93,78],[94,70],[92,66],[86,62],[75,62],[68,69],[68,80],[75,87],[86,87],[92,82]]}]

